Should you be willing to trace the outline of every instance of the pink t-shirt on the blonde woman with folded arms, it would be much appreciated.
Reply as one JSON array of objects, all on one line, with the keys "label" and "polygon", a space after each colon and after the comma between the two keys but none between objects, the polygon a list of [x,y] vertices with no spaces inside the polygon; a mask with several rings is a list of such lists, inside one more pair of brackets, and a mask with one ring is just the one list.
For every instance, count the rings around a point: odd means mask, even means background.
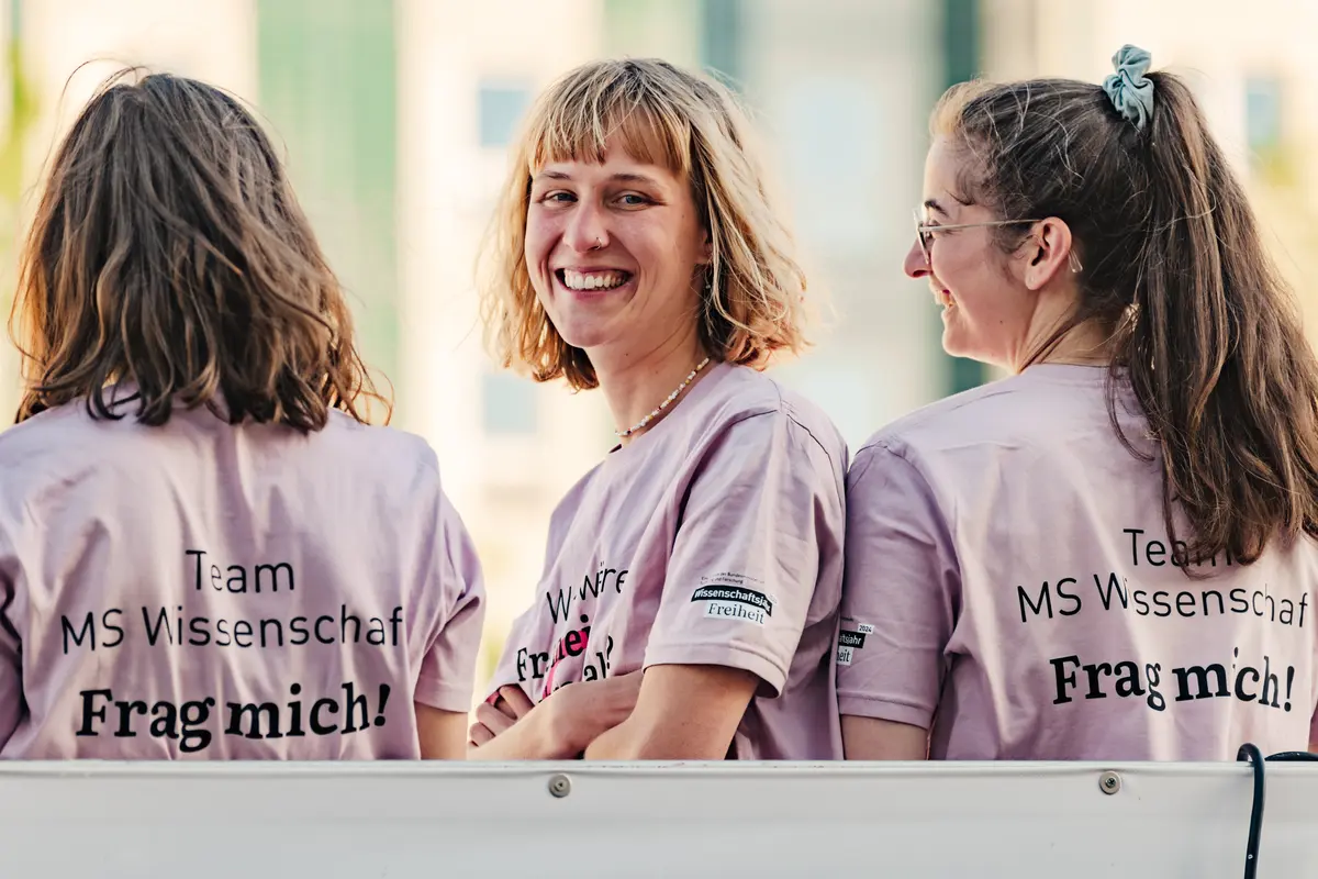
[{"label": "pink t-shirt on the blonde woman with folded arms", "polygon": [[710,366],[554,511],[492,691],[539,701],[650,666],[743,668],[760,688],[729,756],[840,756],[846,455],[815,406],[763,373]]}]

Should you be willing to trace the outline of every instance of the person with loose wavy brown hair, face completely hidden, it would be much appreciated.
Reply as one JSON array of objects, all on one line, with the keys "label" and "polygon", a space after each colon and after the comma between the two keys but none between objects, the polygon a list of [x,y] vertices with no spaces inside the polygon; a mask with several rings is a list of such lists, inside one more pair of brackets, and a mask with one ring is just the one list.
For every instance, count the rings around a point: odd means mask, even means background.
[{"label": "person with loose wavy brown hair, face completely hidden", "polygon": [[[253,116],[111,78],[21,254],[0,756],[463,754],[480,568]],[[376,398],[378,399],[378,398]]]}]

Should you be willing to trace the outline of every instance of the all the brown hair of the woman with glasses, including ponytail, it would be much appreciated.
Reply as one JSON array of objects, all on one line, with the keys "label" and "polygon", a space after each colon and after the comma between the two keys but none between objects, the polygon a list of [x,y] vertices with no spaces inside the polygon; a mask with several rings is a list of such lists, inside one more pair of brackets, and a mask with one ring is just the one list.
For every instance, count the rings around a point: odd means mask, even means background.
[{"label": "all the brown hair of the woman with glasses, including ponytail", "polygon": [[[1120,377],[1157,440],[1168,536],[1178,505],[1190,557],[1249,563],[1273,538],[1318,534],[1318,364],[1190,88],[1149,79],[1143,129],[1101,86],[1061,79],[954,87],[933,128],[971,159],[963,198],[1070,227],[1081,300],[1050,344],[1089,320],[1111,333],[1112,426],[1135,452],[1116,422]],[[1023,241],[1019,228],[996,237],[1008,252]]]}]

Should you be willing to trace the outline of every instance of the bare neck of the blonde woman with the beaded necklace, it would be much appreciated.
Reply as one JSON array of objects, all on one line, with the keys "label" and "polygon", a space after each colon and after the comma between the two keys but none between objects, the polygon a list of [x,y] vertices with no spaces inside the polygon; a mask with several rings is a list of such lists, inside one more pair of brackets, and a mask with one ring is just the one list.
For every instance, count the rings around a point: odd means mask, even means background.
[{"label": "bare neck of the blonde woman with the beaded necklace", "polygon": [[[695,327],[666,339],[641,354],[623,353],[617,357],[601,356],[600,352],[589,352],[589,354],[596,377],[600,380],[600,390],[609,401],[613,424],[618,431],[630,430],[646,415],[650,415],[670,394],[677,390],[691,370],[705,358]],[[650,419],[646,427],[630,436],[623,436],[621,443],[626,445],[663,420],[675,406],[681,405],[681,399],[691,393],[692,386],[701,380],[708,369],[709,364],[705,364],[705,369],[701,369],[691,380],[676,399],[670,402],[659,415]]]}]

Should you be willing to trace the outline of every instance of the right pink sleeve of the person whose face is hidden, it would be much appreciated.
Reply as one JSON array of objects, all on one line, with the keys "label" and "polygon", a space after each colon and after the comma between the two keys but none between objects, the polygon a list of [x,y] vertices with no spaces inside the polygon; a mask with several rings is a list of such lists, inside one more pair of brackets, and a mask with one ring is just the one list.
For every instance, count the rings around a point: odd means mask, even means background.
[{"label": "right pink sleeve of the person whose face is hidden", "polygon": [[485,623],[485,584],[476,547],[461,518],[439,493],[435,556],[428,589],[442,596],[442,623],[416,679],[415,701],[445,712],[471,709]]}]

